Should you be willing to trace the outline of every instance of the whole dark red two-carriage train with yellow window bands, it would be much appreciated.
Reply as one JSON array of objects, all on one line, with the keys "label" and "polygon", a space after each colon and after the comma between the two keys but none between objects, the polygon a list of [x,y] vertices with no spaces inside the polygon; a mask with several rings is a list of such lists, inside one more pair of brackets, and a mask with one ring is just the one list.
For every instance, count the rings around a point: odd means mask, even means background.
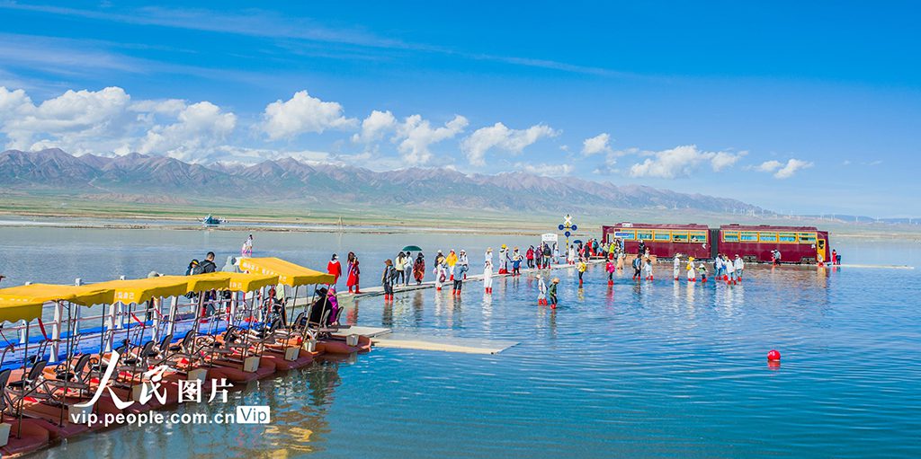
[{"label": "whole dark red two-carriage train with yellow window bands", "polygon": [[724,224],[710,228],[705,224],[631,224],[601,226],[601,240],[624,240],[624,251],[635,253],[640,241],[649,253],[672,258],[676,253],[699,259],[715,258],[717,253],[746,261],[770,262],[772,252],[780,251],[784,263],[815,263],[829,259],[828,232],[815,226],[770,226]]}]

